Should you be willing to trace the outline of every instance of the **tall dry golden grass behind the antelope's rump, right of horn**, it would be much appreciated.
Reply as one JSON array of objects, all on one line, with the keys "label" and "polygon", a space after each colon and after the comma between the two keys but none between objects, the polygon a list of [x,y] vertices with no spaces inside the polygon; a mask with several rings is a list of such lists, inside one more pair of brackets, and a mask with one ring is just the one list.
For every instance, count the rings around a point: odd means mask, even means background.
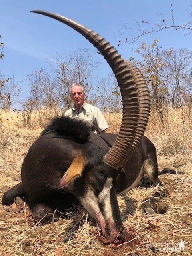
[{"label": "tall dry golden grass behind the antelope's rump, right of horn", "polygon": [[150,138],[158,154],[164,156],[192,156],[192,120],[181,109],[170,109],[162,127],[156,112],[151,112],[146,136]]}]

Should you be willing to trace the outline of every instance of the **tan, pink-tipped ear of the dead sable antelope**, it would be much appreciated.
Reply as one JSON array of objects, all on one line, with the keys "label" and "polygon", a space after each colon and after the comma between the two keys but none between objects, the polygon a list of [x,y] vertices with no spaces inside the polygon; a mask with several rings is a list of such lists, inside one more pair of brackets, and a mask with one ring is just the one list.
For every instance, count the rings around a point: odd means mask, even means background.
[{"label": "tan, pink-tipped ear of the dead sable antelope", "polygon": [[77,156],[74,158],[72,164],[60,180],[59,189],[66,186],[72,179],[76,179],[81,176],[84,166],[87,163],[87,159],[84,156]]}]

